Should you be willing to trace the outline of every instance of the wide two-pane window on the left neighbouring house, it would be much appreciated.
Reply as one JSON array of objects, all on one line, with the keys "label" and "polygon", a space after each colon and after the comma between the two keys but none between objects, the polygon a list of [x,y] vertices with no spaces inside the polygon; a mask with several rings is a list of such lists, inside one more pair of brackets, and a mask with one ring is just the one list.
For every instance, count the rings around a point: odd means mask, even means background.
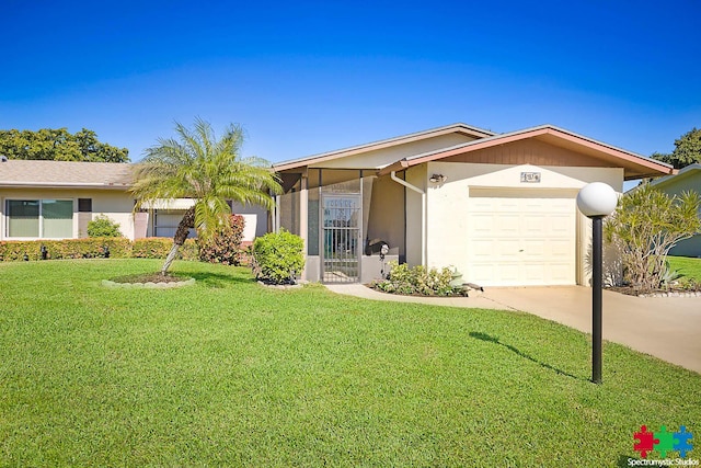
[{"label": "wide two-pane window on the left neighbouring house", "polygon": [[73,202],[70,199],[8,199],[7,214],[8,237],[73,237]]}]

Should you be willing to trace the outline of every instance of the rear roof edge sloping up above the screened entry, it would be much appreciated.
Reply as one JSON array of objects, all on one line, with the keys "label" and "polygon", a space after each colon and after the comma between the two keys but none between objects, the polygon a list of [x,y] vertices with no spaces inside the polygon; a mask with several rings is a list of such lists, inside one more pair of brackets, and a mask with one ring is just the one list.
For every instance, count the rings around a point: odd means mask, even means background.
[{"label": "rear roof edge sloping up above the screened entry", "polygon": [[425,140],[428,138],[435,138],[441,135],[448,134],[462,134],[474,138],[485,138],[491,137],[494,132],[485,130],[478,127],[472,127],[466,124],[452,124],[447,125],[445,127],[432,128],[429,130],[417,132],[414,134],[403,135],[400,137],[388,138],[380,141],[374,141],[365,145],[358,145],[350,148],[338,149],[330,152],[322,152],[320,155],[313,155],[306,158],[294,159],[288,161],[278,162],[273,164],[273,169],[275,171],[286,171],[289,169],[302,168],[310,164],[317,164],[324,161],[330,161],[333,159],[345,158],[353,155],[358,155],[361,152],[374,151],[378,149],[389,148],[399,145],[405,145],[409,142]]}]

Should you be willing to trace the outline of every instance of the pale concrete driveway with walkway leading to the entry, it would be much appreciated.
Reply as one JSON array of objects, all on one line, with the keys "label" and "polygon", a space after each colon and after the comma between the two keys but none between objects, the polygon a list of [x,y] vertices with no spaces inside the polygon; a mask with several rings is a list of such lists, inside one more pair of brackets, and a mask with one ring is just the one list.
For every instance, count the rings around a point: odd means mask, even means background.
[{"label": "pale concrete driveway with walkway leading to the entry", "polygon": [[[583,286],[494,287],[472,297],[406,297],[360,284],[326,285],[377,300],[520,310],[591,333],[591,289]],[[604,290],[604,339],[701,374],[701,297],[625,296]]]}]

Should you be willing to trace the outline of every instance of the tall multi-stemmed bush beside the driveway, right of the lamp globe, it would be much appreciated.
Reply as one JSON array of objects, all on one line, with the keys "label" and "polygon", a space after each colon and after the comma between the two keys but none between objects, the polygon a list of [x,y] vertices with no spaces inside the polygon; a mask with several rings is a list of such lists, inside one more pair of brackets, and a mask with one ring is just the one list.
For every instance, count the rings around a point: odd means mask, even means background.
[{"label": "tall multi-stemmed bush beside the driveway, right of the lamp globe", "polygon": [[607,240],[620,249],[623,279],[639,290],[663,286],[669,249],[701,232],[700,206],[697,192],[669,196],[650,184],[623,195],[605,224]]}]

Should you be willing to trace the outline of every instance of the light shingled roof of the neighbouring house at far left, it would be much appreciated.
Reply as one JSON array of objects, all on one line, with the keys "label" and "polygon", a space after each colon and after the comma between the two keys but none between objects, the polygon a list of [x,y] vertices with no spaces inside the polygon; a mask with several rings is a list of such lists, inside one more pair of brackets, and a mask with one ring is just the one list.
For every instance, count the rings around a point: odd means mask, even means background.
[{"label": "light shingled roof of the neighbouring house at far left", "polygon": [[0,187],[128,189],[131,165],[119,162],[0,162]]}]

